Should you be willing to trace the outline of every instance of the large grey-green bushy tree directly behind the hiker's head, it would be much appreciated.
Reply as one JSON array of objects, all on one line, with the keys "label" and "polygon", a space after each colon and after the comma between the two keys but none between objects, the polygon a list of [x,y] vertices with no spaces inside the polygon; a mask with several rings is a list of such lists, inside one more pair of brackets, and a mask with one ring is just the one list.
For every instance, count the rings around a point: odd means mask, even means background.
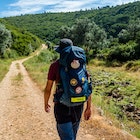
[{"label": "large grey-green bushy tree directly behind the hiker's head", "polygon": [[59,36],[60,38],[69,37],[74,44],[84,46],[88,60],[95,56],[98,50],[108,46],[105,31],[87,18],[78,19],[72,27],[62,26]]}]

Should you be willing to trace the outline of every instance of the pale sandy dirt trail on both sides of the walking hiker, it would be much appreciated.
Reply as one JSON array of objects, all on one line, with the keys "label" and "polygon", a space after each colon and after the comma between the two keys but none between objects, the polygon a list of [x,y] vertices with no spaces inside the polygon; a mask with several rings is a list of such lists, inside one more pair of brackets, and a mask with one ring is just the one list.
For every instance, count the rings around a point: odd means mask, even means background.
[{"label": "pale sandy dirt trail on both sides of the walking hiker", "polygon": [[[59,140],[52,109],[44,111],[43,92],[30,79],[23,60],[13,61],[0,83],[0,140]],[[94,107],[93,107],[94,108]],[[111,126],[93,109],[91,120],[82,119],[77,140],[135,140]]]}]

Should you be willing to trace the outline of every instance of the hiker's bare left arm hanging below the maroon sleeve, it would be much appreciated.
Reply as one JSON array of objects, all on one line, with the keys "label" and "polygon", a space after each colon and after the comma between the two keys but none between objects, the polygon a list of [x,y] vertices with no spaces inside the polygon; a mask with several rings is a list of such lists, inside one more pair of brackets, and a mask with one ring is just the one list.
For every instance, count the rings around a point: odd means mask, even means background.
[{"label": "hiker's bare left arm hanging below the maroon sleeve", "polygon": [[44,90],[44,105],[45,105],[45,111],[46,112],[50,112],[50,105],[49,105],[49,98],[51,95],[51,90],[52,90],[52,86],[53,86],[53,81],[52,80],[48,80],[45,90]]}]

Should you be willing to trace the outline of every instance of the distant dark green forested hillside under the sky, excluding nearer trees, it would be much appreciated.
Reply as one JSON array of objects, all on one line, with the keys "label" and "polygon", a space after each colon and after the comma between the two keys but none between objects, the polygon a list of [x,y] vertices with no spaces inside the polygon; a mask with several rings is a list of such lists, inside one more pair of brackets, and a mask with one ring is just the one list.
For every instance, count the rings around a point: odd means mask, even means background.
[{"label": "distant dark green forested hillside under the sky, excluding nearer trees", "polygon": [[24,28],[43,40],[56,42],[57,32],[61,26],[71,26],[77,19],[85,17],[93,19],[109,36],[116,37],[121,29],[127,27],[129,21],[140,18],[140,2],[86,11],[28,14],[4,19],[11,25]]}]

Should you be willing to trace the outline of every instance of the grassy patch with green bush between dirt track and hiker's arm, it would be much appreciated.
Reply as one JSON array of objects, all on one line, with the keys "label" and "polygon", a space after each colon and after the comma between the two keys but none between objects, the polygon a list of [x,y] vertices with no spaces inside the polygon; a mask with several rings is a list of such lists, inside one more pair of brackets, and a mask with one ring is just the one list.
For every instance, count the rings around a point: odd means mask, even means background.
[{"label": "grassy patch with green bush between dirt track and hiker's arm", "polygon": [[56,56],[57,54],[54,52],[43,50],[39,55],[24,62],[32,79],[37,82],[42,90],[45,87],[49,65],[54,59],[56,59]]}]

